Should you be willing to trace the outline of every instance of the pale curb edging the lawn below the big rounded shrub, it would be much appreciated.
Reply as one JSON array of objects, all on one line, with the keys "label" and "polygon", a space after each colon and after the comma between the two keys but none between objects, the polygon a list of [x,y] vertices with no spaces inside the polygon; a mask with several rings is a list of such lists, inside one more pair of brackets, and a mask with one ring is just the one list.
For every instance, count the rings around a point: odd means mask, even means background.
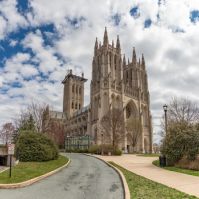
[{"label": "pale curb edging the lawn below the big rounded shrub", "polygon": [[40,181],[40,180],[42,180],[44,178],[47,178],[47,177],[59,172],[63,168],[67,167],[70,164],[70,162],[71,162],[71,160],[68,159],[68,162],[65,165],[63,165],[63,166],[61,166],[61,167],[59,167],[59,168],[57,168],[57,169],[55,169],[53,171],[45,173],[45,174],[43,174],[41,176],[38,176],[36,178],[32,178],[32,179],[24,181],[24,182],[13,183],[13,184],[0,184],[0,189],[16,189],[16,188],[22,188],[22,187],[29,186],[29,185],[31,185],[31,184],[33,184],[35,182],[38,182],[38,181]]}]

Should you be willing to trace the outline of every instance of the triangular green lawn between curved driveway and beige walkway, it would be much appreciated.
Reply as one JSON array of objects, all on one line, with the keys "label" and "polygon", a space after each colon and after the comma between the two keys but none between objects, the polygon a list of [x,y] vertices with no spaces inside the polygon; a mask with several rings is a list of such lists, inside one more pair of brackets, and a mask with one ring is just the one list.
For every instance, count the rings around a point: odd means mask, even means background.
[{"label": "triangular green lawn between curved driveway and beige walkway", "polygon": [[[129,186],[131,198],[140,199],[194,199],[190,196],[175,189],[169,188],[160,183],[154,182],[142,176],[136,175],[119,165],[110,162],[124,174]],[[160,176],[161,177],[161,176]]]}]

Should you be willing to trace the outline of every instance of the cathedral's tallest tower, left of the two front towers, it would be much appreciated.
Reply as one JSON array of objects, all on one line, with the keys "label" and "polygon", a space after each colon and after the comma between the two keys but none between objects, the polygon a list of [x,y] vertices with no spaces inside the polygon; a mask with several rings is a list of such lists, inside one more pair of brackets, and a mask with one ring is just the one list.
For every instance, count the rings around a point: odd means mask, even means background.
[{"label": "cathedral's tallest tower, left of the two front towers", "polygon": [[[105,28],[103,44],[96,38],[92,62],[91,81],[91,132],[95,140],[100,140],[99,121],[110,107],[122,107],[122,59],[119,36],[116,46],[109,44]],[[116,98],[116,96],[118,96]],[[120,98],[120,99],[119,99]]]}]

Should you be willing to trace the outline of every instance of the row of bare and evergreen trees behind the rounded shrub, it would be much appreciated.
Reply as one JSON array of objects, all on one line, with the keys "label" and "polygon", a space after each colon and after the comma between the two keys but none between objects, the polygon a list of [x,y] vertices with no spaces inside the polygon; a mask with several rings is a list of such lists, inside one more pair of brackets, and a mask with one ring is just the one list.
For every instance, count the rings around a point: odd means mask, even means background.
[{"label": "row of bare and evergreen trees behind the rounded shrub", "polygon": [[16,142],[20,132],[42,133],[51,138],[60,148],[64,147],[64,123],[49,117],[49,106],[32,102],[13,122],[7,122],[0,129],[3,144]]}]

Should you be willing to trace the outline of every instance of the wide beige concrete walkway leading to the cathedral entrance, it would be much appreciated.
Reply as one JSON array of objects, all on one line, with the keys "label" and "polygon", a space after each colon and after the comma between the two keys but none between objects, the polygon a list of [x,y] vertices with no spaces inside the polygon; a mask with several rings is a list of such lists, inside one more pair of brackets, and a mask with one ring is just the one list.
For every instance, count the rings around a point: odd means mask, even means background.
[{"label": "wide beige concrete walkway leading to the cathedral entrance", "polygon": [[199,197],[199,177],[156,167],[152,162],[156,160],[157,157],[141,157],[130,154],[97,157],[105,161],[113,161],[133,173]]}]

